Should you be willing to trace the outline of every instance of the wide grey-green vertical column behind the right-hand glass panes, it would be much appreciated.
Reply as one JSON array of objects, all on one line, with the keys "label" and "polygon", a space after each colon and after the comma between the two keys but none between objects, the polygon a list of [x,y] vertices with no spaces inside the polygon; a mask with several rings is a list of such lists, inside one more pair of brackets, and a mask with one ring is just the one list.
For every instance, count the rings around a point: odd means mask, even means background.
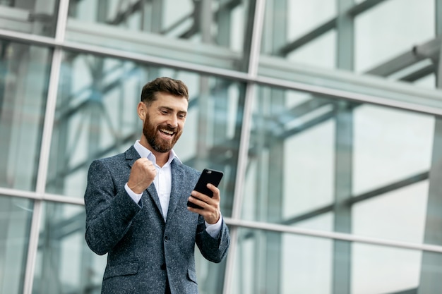
[{"label": "wide grey-green vertical column behind the right-hand glass panes", "polygon": [[[354,0],[337,0],[338,68],[352,71],[354,64],[354,20],[346,12]],[[352,212],[346,200],[352,197],[353,114],[346,102],[338,104],[335,116],[335,206],[334,230],[352,232]],[[349,294],[351,288],[352,244],[333,241],[332,293]]]}]

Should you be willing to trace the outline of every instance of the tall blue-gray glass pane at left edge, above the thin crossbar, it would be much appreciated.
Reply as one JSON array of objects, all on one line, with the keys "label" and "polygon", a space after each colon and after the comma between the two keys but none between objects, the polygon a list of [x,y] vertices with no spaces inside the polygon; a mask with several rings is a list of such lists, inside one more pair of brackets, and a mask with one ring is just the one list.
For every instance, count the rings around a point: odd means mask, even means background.
[{"label": "tall blue-gray glass pane at left edge, above the thin crossbar", "polygon": [[0,45],[0,186],[35,190],[52,51]]}]

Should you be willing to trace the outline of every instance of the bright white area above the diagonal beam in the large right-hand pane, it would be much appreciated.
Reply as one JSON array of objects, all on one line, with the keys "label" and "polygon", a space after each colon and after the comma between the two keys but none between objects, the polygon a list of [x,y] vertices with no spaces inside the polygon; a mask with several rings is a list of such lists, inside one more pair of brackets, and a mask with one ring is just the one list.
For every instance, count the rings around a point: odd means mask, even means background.
[{"label": "bright white area above the diagonal beam in the large right-hand pane", "polygon": [[433,135],[433,116],[359,106],[354,110],[353,194],[429,171]]}]

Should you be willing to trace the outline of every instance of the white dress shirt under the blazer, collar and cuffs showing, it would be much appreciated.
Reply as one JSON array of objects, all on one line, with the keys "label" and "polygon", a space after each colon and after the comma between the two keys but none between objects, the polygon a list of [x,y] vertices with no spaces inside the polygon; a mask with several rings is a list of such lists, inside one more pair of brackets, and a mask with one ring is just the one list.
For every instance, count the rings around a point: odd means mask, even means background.
[{"label": "white dress shirt under the blazer, collar and cuffs showing", "polygon": [[[170,164],[174,159],[177,159],[180,163],[181,161],[172,149],[169,152],[169,160],[167,160],[164,166],[160,167],[157,165],[157,159],[155,158],[155,155],[153,155],[153,153],[150,152],[149,149],[141,145],[140,140],[136,140],[135,144],[133,144],[133,147],[135,147],[138,154],[140,154],[140,157],[145,157],[152,161],[155,165],[155,169],[157,169],[157,176],[155,176],[153,183],[155,185],[155,189],[157,190],[158,197],[160,198],[162,215],[164,216],[164,219],[166,221],[167,211],[169,209],[170,191],[172,190],[172,169]],[[131,188],[129,188],[129,185],[127,185],[127,183],[126,185],[124,185],[124,188],[133,201],[135,201],[136,203],[140,202],[143,193],[137,194],[136,192],[133,192]],[[209,224],[206,221],[205,231],[207,231],[208,234],[211,235],[213,238],[217,238],[217,235],[221,231],[221,224],[222,216],[220,216],[220,219],[217,221],[217,223]]]}]

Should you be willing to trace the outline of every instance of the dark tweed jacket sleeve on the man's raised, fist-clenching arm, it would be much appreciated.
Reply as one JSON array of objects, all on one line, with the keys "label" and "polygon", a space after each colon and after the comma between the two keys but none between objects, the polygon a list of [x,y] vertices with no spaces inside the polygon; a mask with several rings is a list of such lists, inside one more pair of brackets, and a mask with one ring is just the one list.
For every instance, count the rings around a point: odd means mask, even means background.
[{"label": "dark tweed jacket sleeve on the man's raised, fist-clenching arm", "polygon": [[[102,161],[92,162],[85,191],[86,233],[90,249],[104,255],[117,245],[141,210]],[[121,186],[121,187],[120,187]]]}]

